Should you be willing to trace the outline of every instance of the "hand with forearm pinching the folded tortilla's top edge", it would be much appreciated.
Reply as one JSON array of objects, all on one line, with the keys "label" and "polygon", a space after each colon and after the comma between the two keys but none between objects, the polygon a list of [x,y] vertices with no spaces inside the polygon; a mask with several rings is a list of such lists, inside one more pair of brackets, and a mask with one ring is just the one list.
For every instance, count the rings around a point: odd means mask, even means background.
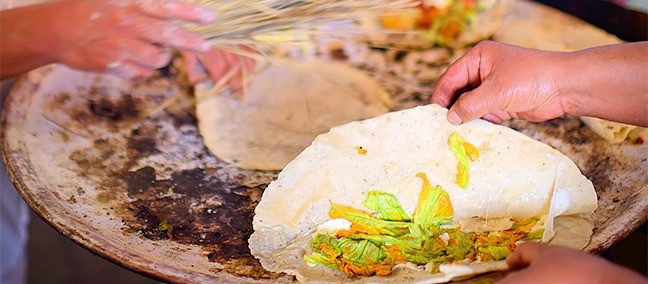
[{"label": "hand with forearm pinching the folded tortilla's top edge", "polygon": [[559,53],[483,42],[448,68],[431,101],[452,105],[454,124],[570,114],[648,126],[647,48],[640,42]]}]

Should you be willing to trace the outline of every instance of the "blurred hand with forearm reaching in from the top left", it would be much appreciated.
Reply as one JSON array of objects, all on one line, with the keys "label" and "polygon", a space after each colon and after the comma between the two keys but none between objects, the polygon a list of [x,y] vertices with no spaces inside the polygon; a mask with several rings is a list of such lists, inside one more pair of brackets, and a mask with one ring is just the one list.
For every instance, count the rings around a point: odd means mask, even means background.
[{"label": "blurred hand with forearm reaching in from the top left", "polygon": [[193,52],[210,48],[173,20],[207,23],[215,19],[211,11],[179,0],[66,0],[0,13],[2,79],[50,63],[127,78],[147,77],[169,62],[168,47]]}]

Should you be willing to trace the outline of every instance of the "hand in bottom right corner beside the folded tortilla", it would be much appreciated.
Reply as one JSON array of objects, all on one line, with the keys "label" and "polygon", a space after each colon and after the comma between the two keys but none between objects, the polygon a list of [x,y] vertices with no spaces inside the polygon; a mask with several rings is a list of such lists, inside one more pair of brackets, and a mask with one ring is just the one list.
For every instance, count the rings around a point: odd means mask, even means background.
[{"label": "hand in bottom right corner beside the folded tortilla", "polygon": [[507,259],[511,270],[498,284],[508,283],[641,283],[638,273],[572,248],[523,243]]}]

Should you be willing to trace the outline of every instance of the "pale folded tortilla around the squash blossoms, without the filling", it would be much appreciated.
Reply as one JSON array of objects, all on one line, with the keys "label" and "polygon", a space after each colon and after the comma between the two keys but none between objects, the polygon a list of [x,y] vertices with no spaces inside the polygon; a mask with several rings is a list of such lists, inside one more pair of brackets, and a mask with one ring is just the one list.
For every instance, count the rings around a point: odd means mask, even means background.
[{"label": "pale folded tortilla around the squash blossoms, without the filling", "polygon": [[[550,146],[507,127],[478,120],[447,122],[447,110],[427,105],[351,122],[318,136],[265,190],[256,207],[250,250],[264,268],[302,282],[440,283],[493,270],[505,262],[441,265],[431,274],[398,265],[392,275],[349,278],[303,260],[317,226],[330,220],[330,203],[363,208],[366,192],[394,194],[413,212],[424,173],[450,196],[461,230],[507,229],[511,220],[544,220],[543,241],[583,248],[592,225],[580,216],[596,209],[592,183]],[[455,181],[457,160],[447,144],[452,133],[475,145],[466,189]],[[358,147],[366,152],[359,153]],[[560,216],[559,218],[555,218]],[[568,216],[568,217],[566,217]]]}]

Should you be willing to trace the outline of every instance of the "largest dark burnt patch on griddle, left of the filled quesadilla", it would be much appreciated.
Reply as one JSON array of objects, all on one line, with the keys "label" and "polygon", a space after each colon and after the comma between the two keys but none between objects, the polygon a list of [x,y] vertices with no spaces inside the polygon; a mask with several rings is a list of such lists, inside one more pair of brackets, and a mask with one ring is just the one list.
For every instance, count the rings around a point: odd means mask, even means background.
[{"label": "largest dark burnt patch on griddle, left of the filled quesadilla", "polygon": [[[122,218],[127,233],[168,240],[166,231],[158,229],[167,221],[171,241],[202,246],[209,261],[224,265],[220,271],[255,279],[280,277],[263,269],[248,248],[262,188],[239,186],[236,178],[222,181],[216,168],[177,171],[162,180],[153,167],[130,170],[139,158],[160,152],[157,131],[155,125],[144,124],[133,129],[125,143],[96,139],[93,147],[75,151],[70,159],[80,175],[99,179],[98,201],[111,204],[110,213]],[[124,202],[122,194],[130,201]]]}]

